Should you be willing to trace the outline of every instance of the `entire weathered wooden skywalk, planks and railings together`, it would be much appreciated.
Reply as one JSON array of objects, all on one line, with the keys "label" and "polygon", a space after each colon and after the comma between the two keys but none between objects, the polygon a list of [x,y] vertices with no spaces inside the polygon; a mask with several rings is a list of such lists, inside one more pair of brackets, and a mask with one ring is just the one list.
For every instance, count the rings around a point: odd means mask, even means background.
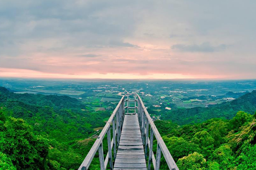
[{"label": "entire weathered wooden skywalk, planks and railings together", "polygon": [[[104,154],[102,141],[106,134],[108,153]],[[92,170],[89,167],[97,152],[101,170],[159,170],[162,154],[169,170],[179,170],[142,99],[135,93],[122,96],[78,170]]]}]

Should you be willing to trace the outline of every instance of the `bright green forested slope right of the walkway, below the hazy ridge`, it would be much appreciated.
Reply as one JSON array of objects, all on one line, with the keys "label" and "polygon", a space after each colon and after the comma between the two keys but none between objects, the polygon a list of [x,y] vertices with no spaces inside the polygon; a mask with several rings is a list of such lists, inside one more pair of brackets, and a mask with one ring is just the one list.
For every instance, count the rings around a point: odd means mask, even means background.
[{"label": "bright green forested slope right of the walkway, below the hazy ridge", "polygon": [[[255,170],[255,118],[240,111],[230,120],[181,127],[166,121],[155,124],[180,170]],[[168,169],[163,166],[161,170]]]}]

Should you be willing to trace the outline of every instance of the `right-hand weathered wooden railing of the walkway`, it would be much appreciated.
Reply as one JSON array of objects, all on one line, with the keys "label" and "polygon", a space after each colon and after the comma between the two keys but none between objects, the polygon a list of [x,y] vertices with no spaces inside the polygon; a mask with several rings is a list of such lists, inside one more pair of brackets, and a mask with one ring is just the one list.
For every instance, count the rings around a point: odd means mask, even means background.
[{"label": "right-hand weathered wooden railing of the walkway", "polygon": [[[148,157],[148,170],[151,169],[151,163],[153,164],[154,170],[159,170],[161,153],[163,153],[163,156],[170,170],[179,170],[174,159],[172,158],[171,153],[166,147],[166,144],[163,142],[163,139],[160,136],[160,133],[158,132],[157,127],[154,125],[153,120],[148,114],[148,111],[145,108],[142,99],[138,94],[136,94],[136,96],[138,98],[138,106],[137,106],[138,119],[140,123],[140,130],[141,130],[142,141],[144,145],[145,159],[147,160],[147,157]],[[149,125],[150,125],[150,138],[148,138]],[[154,136],[157,139],[156,158],[154,157],[154,153],[153,153]],[[149,150],[149,153],[148,153],[148,150]]]}]

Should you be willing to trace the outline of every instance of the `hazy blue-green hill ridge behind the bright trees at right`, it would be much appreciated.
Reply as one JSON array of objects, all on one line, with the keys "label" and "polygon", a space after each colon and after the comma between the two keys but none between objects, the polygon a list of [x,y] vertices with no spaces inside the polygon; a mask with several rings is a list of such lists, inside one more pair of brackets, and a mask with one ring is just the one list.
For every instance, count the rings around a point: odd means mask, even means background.
[{"label": "hazy blue-green hill ridge behind the bright trees at right", "polygon": [[[233,93],[233,92],[231,92]],[[229,92],[226,95],[231,95]],[[232,94],[236,95],[236,94]],[[246,93],[243,96],[231,102],[224,102],[218,105],[213,105],[209,108],[177,108],[167,111],[161,115],[163,120],[172,120],[178,125],[203,122],[211,118],[232,119],[238,111],[245,111],[254,114],[256,111],[256,91]]]}]

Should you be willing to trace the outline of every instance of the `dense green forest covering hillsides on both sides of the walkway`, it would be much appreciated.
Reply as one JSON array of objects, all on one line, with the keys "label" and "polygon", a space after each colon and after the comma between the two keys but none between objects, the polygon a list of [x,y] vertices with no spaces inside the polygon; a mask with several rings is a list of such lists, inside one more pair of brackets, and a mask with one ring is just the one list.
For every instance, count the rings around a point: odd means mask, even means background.
[{"label": "dense green forest covering hillsides on both sides of the walkway", "polygon": [[[168,112],[163,115],[166,121],[155,124],[180,170],[254,170],[255,111],[253,91],[209,108]],[[95,141],[90,138],[93,128],[104,126],[110,114],[88,111],[68,96],[15,94],[0,88],[0,169],[75,170]],[[97,163],[93,160],[90,168],[98,170]],[[161,164],[166,170],[164,161]]]}]

